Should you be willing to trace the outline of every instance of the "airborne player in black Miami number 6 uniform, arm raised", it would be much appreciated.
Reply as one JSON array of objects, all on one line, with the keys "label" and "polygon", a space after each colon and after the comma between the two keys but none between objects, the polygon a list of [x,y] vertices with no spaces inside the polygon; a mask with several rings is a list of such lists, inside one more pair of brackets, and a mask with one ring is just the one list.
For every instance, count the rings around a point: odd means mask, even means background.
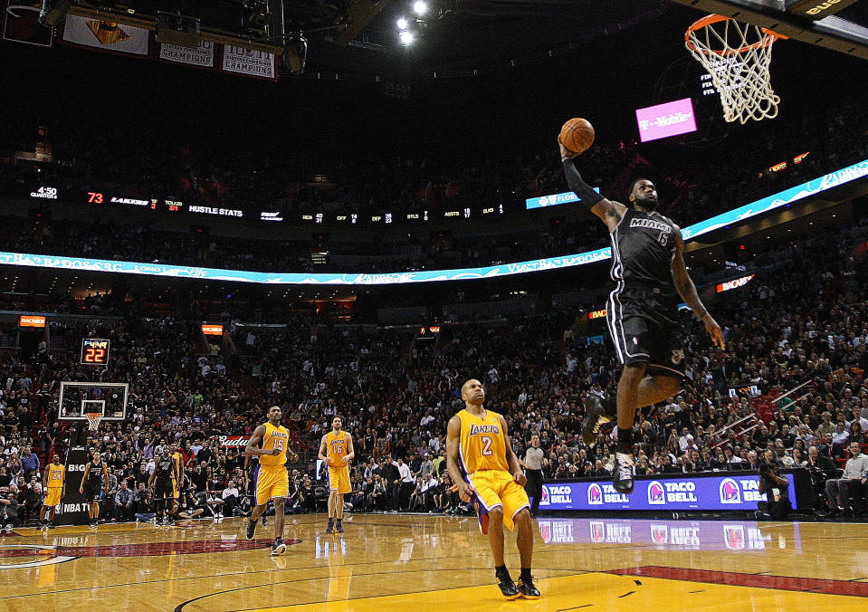
[{"label": "airborne player in black Miami number 6 uniform, arm raised", "polygon": [[[559,141],[558,141],[559,144]],[[702,305],[684,265],[681,229],[656,212],[657,191],[640,178],[630,187],[627,208],[600,196],[573,164],[573,153],[560,145],[569,188],[600,217],[612,238],[612,280],[606,303],[609,334],[624,364],[615,402],[588,395],[584,433],[593,440],[601,421],[617,416],[615,489],[633,491],[633,421],[636,409],[675,396],[684,377],[683,331],[678,296],[705,324],[712,341],[725,349],[723,332]],[[615,413],[615,414],[613,414]]]}]

